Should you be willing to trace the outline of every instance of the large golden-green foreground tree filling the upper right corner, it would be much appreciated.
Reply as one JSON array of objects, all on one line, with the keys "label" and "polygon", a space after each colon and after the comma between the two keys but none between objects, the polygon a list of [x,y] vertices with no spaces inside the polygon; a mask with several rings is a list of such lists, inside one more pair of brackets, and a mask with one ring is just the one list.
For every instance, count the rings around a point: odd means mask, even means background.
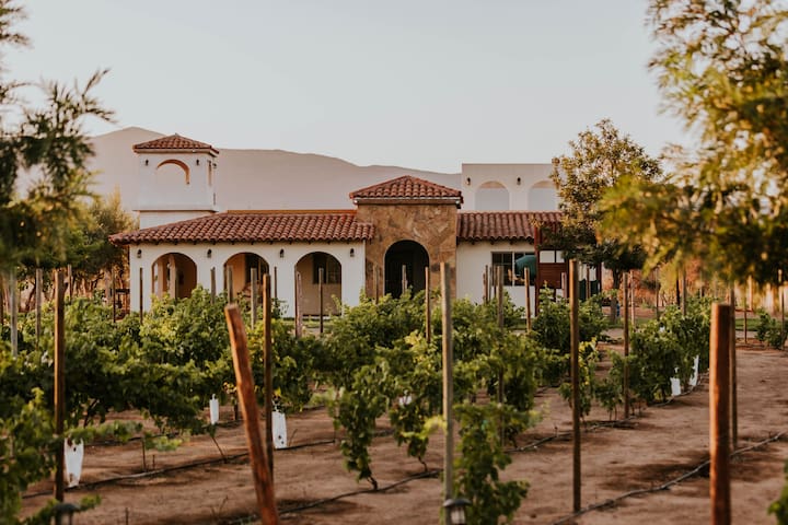
[{"label": "large golden-green foreground tree filling the upper right corner", "polygon": [[776,282],[788,260],[788,57],[784,0],[652,0],[650,67],[696,143],[670,151],[667,185],[625,180],[606,232],[651,266],[697,257],[729,282]]}]

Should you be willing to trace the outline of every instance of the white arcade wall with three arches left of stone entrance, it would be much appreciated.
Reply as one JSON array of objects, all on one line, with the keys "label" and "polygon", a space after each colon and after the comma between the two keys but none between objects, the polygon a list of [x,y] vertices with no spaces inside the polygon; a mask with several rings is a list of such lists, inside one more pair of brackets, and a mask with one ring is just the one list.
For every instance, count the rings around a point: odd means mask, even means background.
[{"label": "white arcade wall with three arches left of stone entrance", "polygon": [[[355,256],[350,256],[354,248]],[[208,249],[211,250],[208,257]],[[279,252],[283,249],[282,257]],[[137,255],[139,250],[139,256]],[[130,293],[131,310],[139,312],[139,275],[142,268],[142,306],[147,312],[152,304],[151,283],[153,262],[164,254],[178,253],[189,257],[197,265],[197,283],[210,290],[211,268],[216,269],[216,289],[220,293],[224,288],[224,262],[235,254],[251,253],[263,257],[269,265],[271,276],[276,268],[277,296],[285,301],[282,314],[294,315],[296,304],[296,264],[303,256],[325,252],[339,260],[341,265],[341,301],[355,306],[364,287],[364,243],[279,243],[279,244],[158,244],[131,245],[129,266],[131,270]],[[302,276],[303,278],[303,276]],[[273,279],[273,277],[271,277]],[[271,293],[274,283],[271,282]]]}]

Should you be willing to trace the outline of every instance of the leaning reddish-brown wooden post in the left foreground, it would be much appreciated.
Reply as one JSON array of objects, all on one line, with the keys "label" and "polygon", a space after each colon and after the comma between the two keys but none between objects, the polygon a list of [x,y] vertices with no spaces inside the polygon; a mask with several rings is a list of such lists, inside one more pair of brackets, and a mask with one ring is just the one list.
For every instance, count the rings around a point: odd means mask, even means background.
[{"label": "leaning reddish-brown wooden post in the left foreground", "polygon": [[250,353],[246,346],[246,330],[244,329],[237,305],[227,305],[224,307],[224,315],[227,317],[228,328],[230,329],[230,345],[232,346],[233,352],[233,368],[235,369],[239,402],[241,404],[244,427],[246,429],[246,443],[250,448],[252,478],[257,495],[260,522],[264,525],[278,524],[279,515],[274,498],[274,479],[259,433],[259,413],[254,393]]}]

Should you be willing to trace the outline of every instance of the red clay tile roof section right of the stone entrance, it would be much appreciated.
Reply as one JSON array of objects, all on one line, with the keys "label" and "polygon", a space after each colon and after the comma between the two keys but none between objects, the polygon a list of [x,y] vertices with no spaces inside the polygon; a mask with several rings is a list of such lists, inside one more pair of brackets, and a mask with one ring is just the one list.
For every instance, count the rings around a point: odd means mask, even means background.
[{"label": "red clay tile roof section right of the stone entrance", "polygon": [[461,211],[457,241],[533,241],[536,225],[560,218],[559,211]]}]

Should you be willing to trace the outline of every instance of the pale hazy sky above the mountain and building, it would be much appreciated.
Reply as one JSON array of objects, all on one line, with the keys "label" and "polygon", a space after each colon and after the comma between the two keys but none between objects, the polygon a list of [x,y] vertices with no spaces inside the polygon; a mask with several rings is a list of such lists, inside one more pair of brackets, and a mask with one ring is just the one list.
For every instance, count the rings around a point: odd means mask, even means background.
[{"label": "pale hazy sky above the mountain and building", "polygon": [[86,80],[140,126],[219,148],[457,172],[549,162],[611,118],[651,154],[645,0],[27,0],[14,79]]}]

